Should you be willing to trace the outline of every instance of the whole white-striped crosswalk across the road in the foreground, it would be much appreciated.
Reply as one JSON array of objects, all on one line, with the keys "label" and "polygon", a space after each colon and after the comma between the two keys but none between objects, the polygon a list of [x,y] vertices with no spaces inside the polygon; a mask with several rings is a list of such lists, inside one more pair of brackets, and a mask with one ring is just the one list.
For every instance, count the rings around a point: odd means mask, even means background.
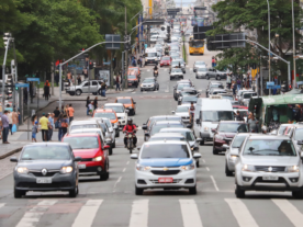
[{"label": "whole white-striped crosswalk across the road in the foreground", "polygon": [[[213,204],[212,204],[213,203]],[[303,204],[295,200],[272,198],[259,200],[258,207],[249,200],[224,198],[215,202],[202,202],[195,198],[177,198],[164,203],[159,198],[135,198],[135,200],[88,200],[88,198],[58,198],[58,200],[29,200],[23,215],[7,215],[7,209],[15,203],[1,203],[0,217],[5,223],[7,218],[15,219],[16,227],[56,226],[61,219],[64,225],[72,227],[90,226],[183,226],[205,227],[227,226],[258,227],[265,226],[295,226],[303,225]],[[24,204],[23,204],[24,205]],[[209,215],[209,211],[215,206],[218,213]],[[271,207],[270,209],[263,207]],[[251,211],[250,211],[251,209]],[[5,214],[5,215],[4,215]],[[47,217],[50,215],[53,220]],[[109,215],[111,214],[111,215]],[[229,215],[232,214],[232,215]],[[274,216],[276,218],[270,218]],[[265,218],[269,218],[266,220]],[[156,219],[155,219],[156,218]],[[125,222],[125,223],[124,223]],[[104,225],[102,225],[104,223]],[[157,225],[155,225],[157,223]]]}]

